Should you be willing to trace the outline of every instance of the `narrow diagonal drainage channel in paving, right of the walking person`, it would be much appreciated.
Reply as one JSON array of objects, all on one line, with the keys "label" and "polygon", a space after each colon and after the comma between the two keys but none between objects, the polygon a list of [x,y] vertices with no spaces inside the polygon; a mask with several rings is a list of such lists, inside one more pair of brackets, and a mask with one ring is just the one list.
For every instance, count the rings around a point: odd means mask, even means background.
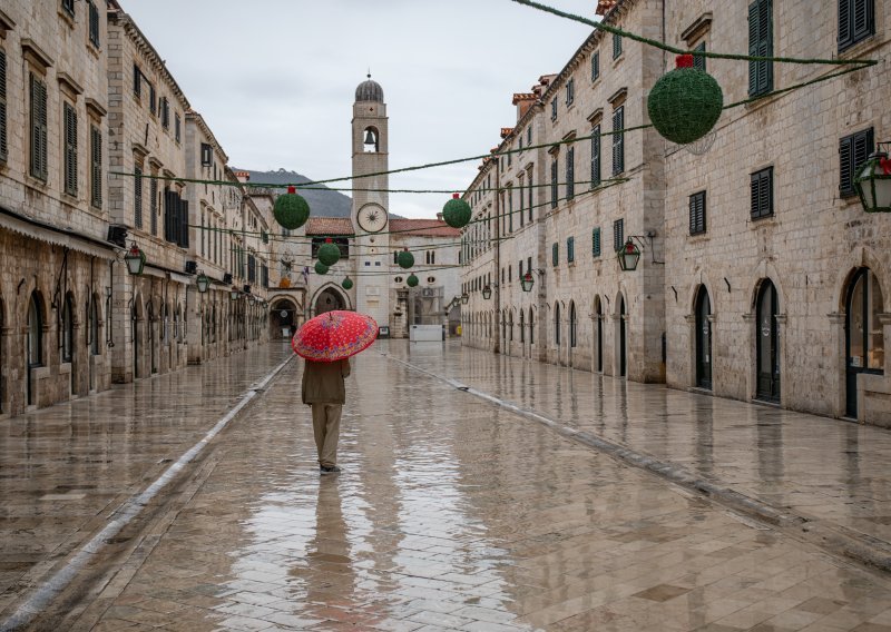
[{"label": "narrow diagonal drainage channel in paving, right of the walking person", "polygon": [[620,443],[604,438],[603,436],[578,431],[532,408],[522,407],[512,402],[501,399],[490,393],[479,391],[462,382],[428,371],[392,355],[384,355],[398,364],[422,373],[433,379],[443,382],[457,391],[461,391],[495,406],[526,417],[527,419],[537,422],[566,438],[587,445],[588,447],[597,450],[634,467],[645,470],[689,492],[705,495],[728,507],[733,512],[738,512],[744,516],[751,516],[757,521],[767,523],[782,530],[786,534],[814,544],[829,553],[840,555],[868,567],[891,573],[891,550],[889,550],[887,543],[878,539],[851,532],[841,525],[826,524],[823,521],[811,520],[782,507],[773,506],[758,498],[741,494],[721,483],[706,481],[675,463],[660,461],[645,453],[631,450]]}]

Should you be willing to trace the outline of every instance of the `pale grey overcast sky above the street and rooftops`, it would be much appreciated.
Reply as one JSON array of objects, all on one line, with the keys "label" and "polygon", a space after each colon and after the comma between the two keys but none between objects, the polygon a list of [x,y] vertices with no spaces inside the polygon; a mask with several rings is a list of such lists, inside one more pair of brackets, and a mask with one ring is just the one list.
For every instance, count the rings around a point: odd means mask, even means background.
[{"label": "pale grey overcast sky above the street and rooftops", "polygon": [[[559,71],[590,32],[510,0],[120,3],[233,167],[313,179],[351,174],[352,105],[369,68],[384,90],[393,169],[488,151],[516,122],[513,92]],[[587,17],[597,4],[550,3]],[[390,185],[460,191],[477,166],[394,175]],[[393,194],[390,207],[433,217],[447,199]]]}]

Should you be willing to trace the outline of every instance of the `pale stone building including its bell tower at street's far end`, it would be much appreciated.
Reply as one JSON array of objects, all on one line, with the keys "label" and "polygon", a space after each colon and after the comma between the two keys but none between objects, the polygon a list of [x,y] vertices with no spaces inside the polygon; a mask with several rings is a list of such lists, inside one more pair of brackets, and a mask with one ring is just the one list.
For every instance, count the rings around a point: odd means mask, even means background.
[{"label": "pale stone building including its bell tower at street's far end", "polygon": [[[288,325],[288,310],[303,319],[332,309],[354,309],[373,316],[392,337],[407,337],[413,324],[446,326],[461,294],[461,233],[439,218],[392,218],[389,176],[363,177],[389,169],[386,105],[383,89],[371,78],[356,88],[352,129],[356,190],[351,217],[310,217],[290,234],[280,227],[282,240],[273,239],[280,261],[273,265],[271,283],[278,288],[271,289],[270,300],[273,315],[283,319],[281,335]],[[326,238],[340,246],[341,260],[319,275],[316,251]],[[405,249],[414,256],[411,269],[396,263]],[[413,288],[407,284],[412,274],[419,282]],[[349,289],[343,287],[347,277],[353,283]]]}]

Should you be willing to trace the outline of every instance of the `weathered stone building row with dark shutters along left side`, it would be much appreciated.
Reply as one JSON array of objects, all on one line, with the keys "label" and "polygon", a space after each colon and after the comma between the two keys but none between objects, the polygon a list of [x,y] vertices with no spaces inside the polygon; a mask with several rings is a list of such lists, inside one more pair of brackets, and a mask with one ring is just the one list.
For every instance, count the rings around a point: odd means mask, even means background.
[{"label": "weathered stone building row with dark shutters along left side", "polygon": [[[118,3],[3,3],[0,70],[0,416],[266,339],[270,215]],[[178,179],[202,177],[198,132],[232,187]],[[200,249],[208,195],[218,263]],[[139,276],[124,265],[130,244],[146,255]]]}]

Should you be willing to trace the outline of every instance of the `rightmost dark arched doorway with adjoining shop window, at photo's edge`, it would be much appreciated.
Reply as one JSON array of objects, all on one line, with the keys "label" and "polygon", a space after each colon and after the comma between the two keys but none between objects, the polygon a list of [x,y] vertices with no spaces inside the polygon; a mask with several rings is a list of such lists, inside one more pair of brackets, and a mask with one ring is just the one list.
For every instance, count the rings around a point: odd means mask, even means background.
[{"label": "rightmost dark arched doorway with adjoining shop window, at photo's edge", "polygon": [[856,381],[861,373],[884,373],[884,335],[879,314],[884,297],[870,268],[858,269],[845,302],[845,415],[858,417]]}]

